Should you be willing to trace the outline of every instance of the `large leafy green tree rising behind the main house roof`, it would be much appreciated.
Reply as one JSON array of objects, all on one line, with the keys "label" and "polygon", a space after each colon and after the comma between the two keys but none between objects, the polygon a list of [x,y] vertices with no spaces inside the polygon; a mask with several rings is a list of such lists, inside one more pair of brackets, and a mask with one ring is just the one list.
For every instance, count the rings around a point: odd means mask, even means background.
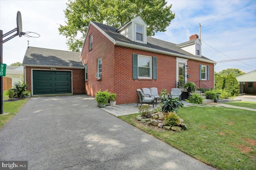
[{"label": "large leafy green tree rising behind the main house roof", "polygon": [[[66,25],[60,25],[59,32],[68,38],[72,51],[80,51],[90,21],[106,23],[116,28],[132,18],[140,16],[148,25],[147,35],[166,31],[175,14],[172,14],[165,0],[69,0],[64,11]],[[78,35],[82,34],[82,37]]]}]

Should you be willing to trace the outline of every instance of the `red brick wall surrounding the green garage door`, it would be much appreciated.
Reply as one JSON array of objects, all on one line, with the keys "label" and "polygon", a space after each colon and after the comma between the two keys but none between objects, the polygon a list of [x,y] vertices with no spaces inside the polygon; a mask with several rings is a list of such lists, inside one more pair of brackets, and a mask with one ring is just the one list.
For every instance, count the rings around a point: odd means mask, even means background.
[{"label": "red brick wall surrounding the green garage door", "polygon": [[[32,82],[31,82],[31,72],[32,69],[44,69],[50,70],[47,67],[26,67],[26,84],[28,85],[27,90],[32,90]],[[73,85],[73,94],[84,94],[84,69],[74,69],[74,68],[56,68],[57,70],[72,70],[72,85]],[[52,70],[50,70],[52,71]]]}]

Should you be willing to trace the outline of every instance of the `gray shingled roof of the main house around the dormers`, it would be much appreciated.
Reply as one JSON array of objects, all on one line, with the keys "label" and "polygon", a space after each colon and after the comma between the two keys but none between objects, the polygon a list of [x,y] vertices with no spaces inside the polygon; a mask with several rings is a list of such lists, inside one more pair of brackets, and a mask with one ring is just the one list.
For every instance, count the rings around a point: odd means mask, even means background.
[{"label": "gray shingled roof of the main house around the dormers", "polygon": [[187,51],[184,51],[180,48],[177,47],[177,44],[174,43],[170,43],[167,41],[163,41],[160,39],[156,39],[153,37],[147,37],[147,44],[143,44],[143,43],[137,43],[134,41],[131,41],[130,39],[126,38],[124,35],[118,33],[116,30],[117,28],[115,27],[111,27],[108,25],[104,25],[102,23],[97,23],[92,21],[95,25],[97,25],[100,29],[102,29],[102,31],[104,31],[106,34],[108,34],[110,37],[112,37],[115,41],[120,41],[123,43],[130,43],[130,44],[134,44],[134,45],[140,45],[143,47],[148,47],[148,48],[152,48],[152,49],[158,49],[158,50],[162,50],[162,51],[167,51],[167,52],[171,52],[171,53],[176,53],[176,54],[180,54],[180,55],[186,55],[189,57],[194,57],[197,59],[205,59],[208,61],[212,61],[211,59],[208,59],[206,57],[198,57],[195,55],[192,55],[191,53],[188,53]]}]

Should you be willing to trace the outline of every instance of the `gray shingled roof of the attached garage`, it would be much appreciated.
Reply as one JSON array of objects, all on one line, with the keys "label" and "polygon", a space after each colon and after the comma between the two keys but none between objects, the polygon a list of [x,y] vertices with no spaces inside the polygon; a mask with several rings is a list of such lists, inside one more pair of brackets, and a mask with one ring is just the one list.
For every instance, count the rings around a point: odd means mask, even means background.
[{"label": "gray shingled roof of the attached garage", "polygon": [[22,65],[55,67],[63,66],[74,68],[84,67],[82,61],[80,60],[79,52],[44,49],[38,47],[28,47]]}]

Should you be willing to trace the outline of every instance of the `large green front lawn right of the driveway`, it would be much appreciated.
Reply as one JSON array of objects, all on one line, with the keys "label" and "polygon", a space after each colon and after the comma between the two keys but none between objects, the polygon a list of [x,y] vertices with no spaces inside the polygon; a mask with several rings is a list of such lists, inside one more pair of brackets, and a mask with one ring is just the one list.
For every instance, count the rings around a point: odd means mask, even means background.
[{"label": "large green front lawn right of the driveway", "polygon": [[[136,114],[134,114],[136,115]],[[134,115],[119,116],[135,125]],[[186,131],[156,131],[137,125],[139,129],[220,169],[254,169],[256,146],[246,139],[256,140],[254,111],[225,107],[183,107],[178,115],[188,126]],[[239,148],[251,149],[244,153]]]}]

